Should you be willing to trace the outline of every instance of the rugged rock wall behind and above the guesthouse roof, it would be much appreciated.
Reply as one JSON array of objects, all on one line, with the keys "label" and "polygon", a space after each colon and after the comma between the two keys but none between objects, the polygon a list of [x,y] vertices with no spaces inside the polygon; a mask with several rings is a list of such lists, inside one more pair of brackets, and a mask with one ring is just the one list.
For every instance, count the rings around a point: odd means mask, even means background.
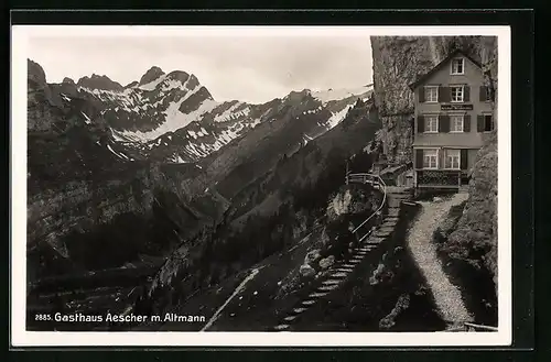
[{"label": "rugged rock wall behind and above the guesthouse roof", "polygon": [[371,36],[375,101],[382,121],[385,154],[411,162],[413,92],[408,87],[455,48],[463,50],[496,79],[497,39],[485,36]]}]

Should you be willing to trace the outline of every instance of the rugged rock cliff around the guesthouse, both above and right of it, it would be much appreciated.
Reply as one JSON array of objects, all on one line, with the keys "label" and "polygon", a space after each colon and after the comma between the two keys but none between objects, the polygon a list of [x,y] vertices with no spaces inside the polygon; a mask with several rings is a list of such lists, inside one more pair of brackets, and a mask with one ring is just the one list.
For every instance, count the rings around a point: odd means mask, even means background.
[{"label": "rugged rock cliff around the guesthouse, both above and right of it", "polygon": [[[480,62],[486,86],[497,94],[497,37],[374,36],[375,101],[382,121],[382,142],[390,161],[411,162],[413,92],[408,85],[440,63],[451,51],[463,50]],[[497,100],[497,97],[495,97]],[[496,103],[494,103],[496,106]],[[496,117],[496,127],[499,114]],[[497,285],[497,136],[478,152],[471,171],[469,198],[456,226],[446,232],[450,256],[484,267]]]}]

